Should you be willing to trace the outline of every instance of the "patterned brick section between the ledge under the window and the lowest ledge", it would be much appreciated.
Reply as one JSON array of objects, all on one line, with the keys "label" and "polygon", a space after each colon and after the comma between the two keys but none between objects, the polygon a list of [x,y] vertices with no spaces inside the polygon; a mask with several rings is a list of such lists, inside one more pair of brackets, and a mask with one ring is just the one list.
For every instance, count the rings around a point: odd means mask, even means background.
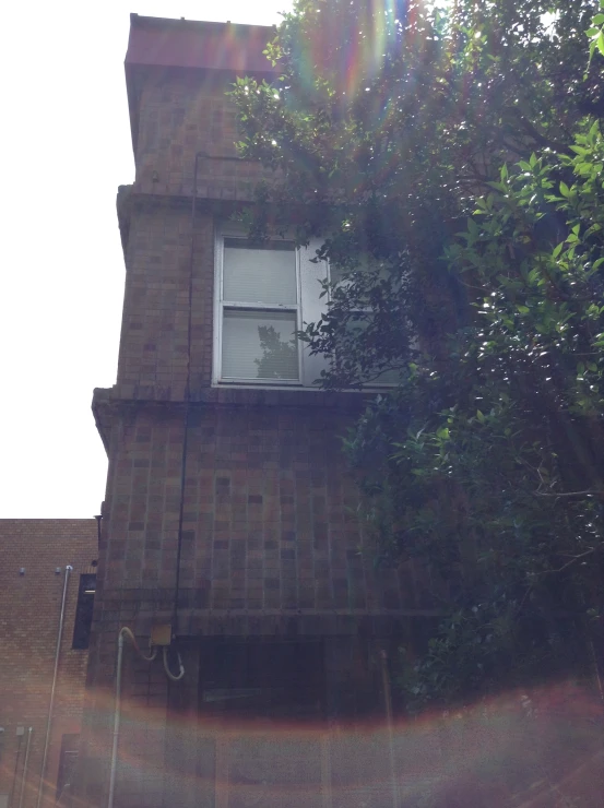
[{"label": "patterned brick section between the ledge under the window and the lowest ledge", "polygon": [[[364,558],[337,411],[205,406],[191,421],[183,608],[352,614],[418,605],[411,573],[376,575]],[[183,413],[169,407],[140,407],[115,430],[104,598],[150,589],[171,599],[182,437]]]}]

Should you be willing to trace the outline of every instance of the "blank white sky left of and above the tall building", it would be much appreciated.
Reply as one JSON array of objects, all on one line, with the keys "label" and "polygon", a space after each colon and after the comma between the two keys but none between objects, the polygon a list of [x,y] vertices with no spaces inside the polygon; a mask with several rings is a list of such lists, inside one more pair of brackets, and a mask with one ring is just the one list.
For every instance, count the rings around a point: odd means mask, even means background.
[{"label": "blank white sky left of and above the tall building", "polygon": [[115,198],[133,179],[129,15],[279,23],[291,0],[8,3],[0,128],[0,518],[99,512],[91,412],[116,379],[123,258]]}]

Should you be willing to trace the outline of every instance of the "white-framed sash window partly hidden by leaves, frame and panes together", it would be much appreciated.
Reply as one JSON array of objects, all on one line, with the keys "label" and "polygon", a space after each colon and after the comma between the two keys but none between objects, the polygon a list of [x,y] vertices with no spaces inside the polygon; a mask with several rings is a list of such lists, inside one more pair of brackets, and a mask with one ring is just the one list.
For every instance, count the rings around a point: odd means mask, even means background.
[{"label": "white-framed sash window partly hidden by leaves, frame and panes together", "polygon": [[324,367],[295,336],[317,321],[324,304],[319,245],[296,249],[275,238],[261,245],[223,228],[216,243],[214,381],[311,387]]}]

